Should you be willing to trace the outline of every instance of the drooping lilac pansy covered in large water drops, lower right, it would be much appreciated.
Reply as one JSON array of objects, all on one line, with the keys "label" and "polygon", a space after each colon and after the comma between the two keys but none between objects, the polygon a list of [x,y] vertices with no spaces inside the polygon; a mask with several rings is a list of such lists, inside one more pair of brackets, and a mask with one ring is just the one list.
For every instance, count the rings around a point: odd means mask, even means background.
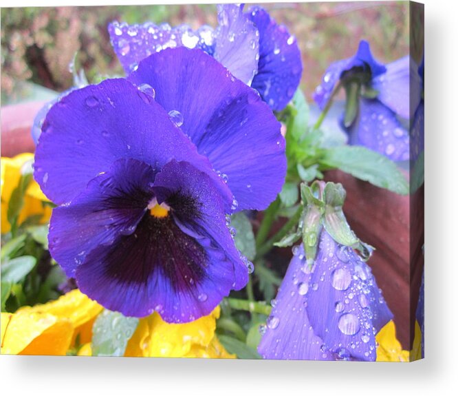
[{"label": "drooping lilac pansy covered in large water drops, lower right", "polygon": [[375,334],[393,318],[369,266],[321,231],[312,268],[301,244],[272,304],[265,359],[375,360]]}]

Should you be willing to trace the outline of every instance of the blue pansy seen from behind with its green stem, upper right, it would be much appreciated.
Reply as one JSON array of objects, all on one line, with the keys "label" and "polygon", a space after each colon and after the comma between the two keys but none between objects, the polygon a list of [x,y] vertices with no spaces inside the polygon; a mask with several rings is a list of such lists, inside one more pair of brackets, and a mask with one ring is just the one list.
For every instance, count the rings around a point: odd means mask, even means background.
[{"label": "blue pansy seen from behind with its green stem, upper right", "polygon": [[342,85],[347,108],[340,125],[349,143],[364,145],[391,160],[408,160],[408,132],[398,116],[410,119],[419,103],[416,76],[408,56],[382,65],[373,58],[369,43],[362,40],[355,56],[329,66],[314,100],[323,110]]}]

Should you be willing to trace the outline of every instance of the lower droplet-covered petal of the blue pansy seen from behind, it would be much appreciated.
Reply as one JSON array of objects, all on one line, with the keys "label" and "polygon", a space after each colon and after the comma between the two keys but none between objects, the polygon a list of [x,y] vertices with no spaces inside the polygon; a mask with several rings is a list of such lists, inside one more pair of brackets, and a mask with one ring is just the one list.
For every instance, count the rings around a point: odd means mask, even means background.
[{"label": "lower droplet-covered petal of the blue pansy seen from behind", "polygon": [[347,130],[351,145],[362,145],[393,161],[408,160],[408,132],[377,99],[360,99],[358,118]]}]

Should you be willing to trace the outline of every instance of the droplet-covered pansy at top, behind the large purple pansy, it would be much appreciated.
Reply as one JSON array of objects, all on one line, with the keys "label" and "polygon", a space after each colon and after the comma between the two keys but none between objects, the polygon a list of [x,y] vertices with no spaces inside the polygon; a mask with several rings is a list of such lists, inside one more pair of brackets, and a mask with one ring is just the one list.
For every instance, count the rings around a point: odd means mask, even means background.
[{"label": "droplet-covered pansy at top, behind the large purple pansy", "polygon": [[129,73],[154,52],[184,46],[212,55],[231,74],[254,87],[272,110],[283,110],[292,99],[302,74],[296,39],[260,7],[243,12],[243,5],[217,6],[218,26],[192,30],[167,23],[127,25],[113,22],[109,34],[124,70]]}]

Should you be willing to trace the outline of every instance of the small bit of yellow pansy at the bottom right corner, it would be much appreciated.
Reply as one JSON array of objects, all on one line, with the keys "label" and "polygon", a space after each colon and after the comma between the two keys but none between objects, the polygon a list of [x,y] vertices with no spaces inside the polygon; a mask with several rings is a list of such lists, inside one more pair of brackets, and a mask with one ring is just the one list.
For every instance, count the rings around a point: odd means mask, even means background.
[{"label": "small bit of yellow pansy at the bottom right corner", "polygon": [[422,331],[415,322],[415,337],[412,351],[402,349],[396,338],[396,326],[392,320],[375,336],[378,342],[377,362],[413,362],[422,358]]}]

